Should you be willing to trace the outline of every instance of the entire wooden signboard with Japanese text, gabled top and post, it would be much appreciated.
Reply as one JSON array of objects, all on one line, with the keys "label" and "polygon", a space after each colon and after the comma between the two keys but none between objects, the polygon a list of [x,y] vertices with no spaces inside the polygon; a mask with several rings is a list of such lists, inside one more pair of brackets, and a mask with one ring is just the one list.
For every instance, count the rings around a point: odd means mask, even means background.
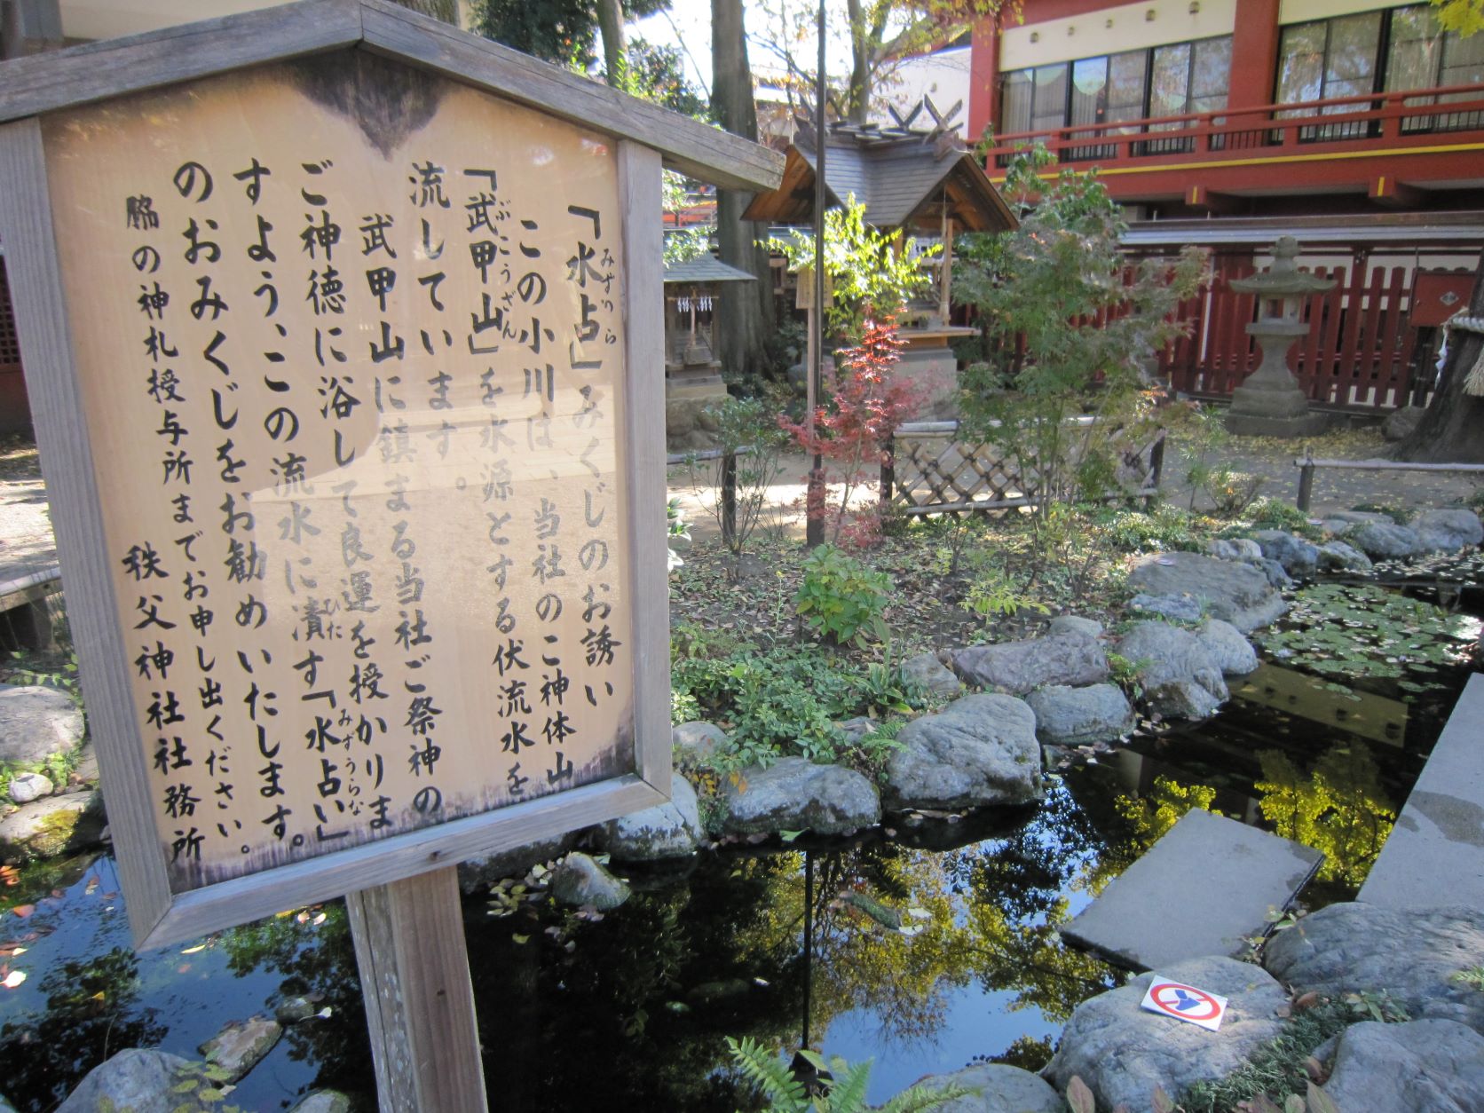
[{"label": "entire wooden signboard with Japanese text, gabled top and post", "polygon": [[355,893],[405,1042],[453,864],[668,797],[660,163],[781,160],[380,0],[10,62],[0,119],[135,938]]}]

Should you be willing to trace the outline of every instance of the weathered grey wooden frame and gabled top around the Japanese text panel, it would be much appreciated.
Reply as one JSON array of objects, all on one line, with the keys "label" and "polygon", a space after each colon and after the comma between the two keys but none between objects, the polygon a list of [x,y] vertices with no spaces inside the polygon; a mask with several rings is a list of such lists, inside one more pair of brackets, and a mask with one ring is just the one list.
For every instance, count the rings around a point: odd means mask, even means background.
[{"label": "weathered grey wooden frame and gabled top around the Japanese text panel", "polygon": [[[632,537],[632,772],[555,795],[389,835],[263,873],[172,892],[139,736],[125,629],[104,540],[39,117],[199,77],[329,50],[370,50],[616,139],[626,276]],[[781,156],[607,86],[386,3],[304,0],[242,16],[18,59],[0,67],[0,243],[10,273],[43,450],[68,614],[135,942],[159,947],[283,908],[386,886],[470,856],[603,822],[669,795],[669,616],[665,561],[662,162],[727,187],[767,188]]]}]

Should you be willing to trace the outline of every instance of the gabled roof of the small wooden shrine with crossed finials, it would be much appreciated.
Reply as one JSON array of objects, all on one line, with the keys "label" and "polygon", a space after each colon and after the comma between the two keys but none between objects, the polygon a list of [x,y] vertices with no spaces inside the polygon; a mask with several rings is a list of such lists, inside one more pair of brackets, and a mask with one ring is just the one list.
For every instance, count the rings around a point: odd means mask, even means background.
[{"label": "gabled roof of the small wooden shrine with crossed finials", "polygon": [[[813,135],[801,131],[788,148],[784,181],[760,193],[748,220],[803,224],[815,206]],[[1005,199],[978,160],[953,142],[929,135],[867,137],[831,131],[825,148],[825,190],[831,205],[853,196],[865,223],[879,229],[936,232],[942,205],[960,229],[1002,232],[1015,227]]]}]

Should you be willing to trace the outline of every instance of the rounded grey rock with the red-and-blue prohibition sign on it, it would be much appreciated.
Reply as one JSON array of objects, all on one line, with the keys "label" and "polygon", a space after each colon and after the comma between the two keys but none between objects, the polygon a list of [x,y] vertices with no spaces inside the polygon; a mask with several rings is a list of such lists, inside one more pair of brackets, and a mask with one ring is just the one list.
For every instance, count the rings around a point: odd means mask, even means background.
[{"label": "rounded grey rock with the red-and-blue prohibition sign on it", "polygon": [[1153,978],[1141,974],[1071,1014],[1061,1046],[1042,1071],[1057,1089],[1066,1091],[1076,1074],[1088,1083],[1098,1109],[1126,1104],[1146,1110],[1156,1086],[1175,1098],[1196,1082],[1224,1077],[1282,1030],[1278,1011],[1287,1008],[1288,994],[1251,963],[1189,959],[1158,974],[1226,997],[1220,1030],[1206,1031],[1141,1009]]}]

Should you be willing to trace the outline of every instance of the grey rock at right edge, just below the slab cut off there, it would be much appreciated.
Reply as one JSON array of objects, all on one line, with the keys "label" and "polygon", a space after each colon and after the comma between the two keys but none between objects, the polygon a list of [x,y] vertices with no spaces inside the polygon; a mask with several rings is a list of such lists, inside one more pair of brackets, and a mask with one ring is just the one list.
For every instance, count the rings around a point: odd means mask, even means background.
[{"label": "grey rock at right edge, just below the slab cut off there", "polygon": [[1413,1018],[1441,1018],[1484,1033],[1484,993],[1453,975],[1484,963],[1484,911],[1331,904],[1275,935],[1263,965],[1327,997],[1386,990]]}]

